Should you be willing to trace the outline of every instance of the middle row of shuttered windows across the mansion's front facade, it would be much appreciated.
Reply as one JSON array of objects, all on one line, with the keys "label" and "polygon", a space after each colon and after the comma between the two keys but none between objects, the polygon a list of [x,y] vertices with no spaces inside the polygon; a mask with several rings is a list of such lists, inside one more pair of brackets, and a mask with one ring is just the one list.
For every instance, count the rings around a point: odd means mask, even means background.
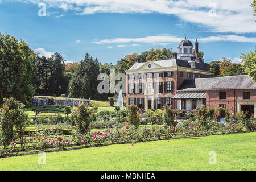
[{"label": "middle row of shuttered windows across the mansion's front facade", "polygon": [[[155,93],[172,93],[174,91],[174,82],[173,81],[167,81],[167,82],[156,82],[157,84],[157,89],[155,90]],[[135,84],[129,84],[130,89],[129,89],[129,93],[134,94],[135,93]],[[144,84],[143,83],[139,83],[139,93],[145,93],[144,92]],[[147,83],[147,93],[152,93],[153,90],[153,86],[152,86],[152,82],[148,82]],[[156,89],[156,87],[155,87]]]}]

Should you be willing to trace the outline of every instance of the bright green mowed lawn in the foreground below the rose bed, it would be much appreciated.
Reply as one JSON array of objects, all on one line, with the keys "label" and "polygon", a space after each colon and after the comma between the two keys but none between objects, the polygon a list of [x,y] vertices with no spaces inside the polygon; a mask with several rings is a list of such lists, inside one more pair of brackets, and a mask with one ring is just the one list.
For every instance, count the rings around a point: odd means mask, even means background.
[{"label": "bright green mowed lawn in the foreground below the rose bed", "polygon": [[[1,170],[255,170],[256,133],[114,144],[0,159]],[[216,164],[209,164],[209,152]]]}]

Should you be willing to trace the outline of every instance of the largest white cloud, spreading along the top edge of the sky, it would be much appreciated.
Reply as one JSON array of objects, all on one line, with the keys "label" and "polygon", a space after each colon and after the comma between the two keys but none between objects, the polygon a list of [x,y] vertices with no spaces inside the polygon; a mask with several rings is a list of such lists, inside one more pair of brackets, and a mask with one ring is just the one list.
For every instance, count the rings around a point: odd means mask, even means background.
[{"label": "largest white cloud, spreading along the top edge of the sky", "polygon": [[[0,0],[1,1],[1,0]],[[18,0],[16,0],[18,1]],[[251,0],[27,0],[64,11],[95,13],[160,13],[203,25],[213,32],[256,32]],[[216,9],[215,9],[216,7]],[[216,11],[216,15],[214,14]],[[212,13],[213,12],[213,13]]]}]

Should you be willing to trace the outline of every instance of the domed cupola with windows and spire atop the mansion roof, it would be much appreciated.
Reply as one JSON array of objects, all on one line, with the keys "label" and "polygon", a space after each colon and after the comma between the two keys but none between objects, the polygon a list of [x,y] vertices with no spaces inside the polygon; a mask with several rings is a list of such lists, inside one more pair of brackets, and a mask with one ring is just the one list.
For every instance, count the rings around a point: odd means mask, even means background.
[{"label": "domed cupola with windows and spire atop the mansion roof", "polygon": [[182,59],[186,57],[195,57],[193,54],[193,44],[190,40],[187,40],[187,37],[185,36],[185,39],[182,40],[179,44],[178,48],[178,58]]}]

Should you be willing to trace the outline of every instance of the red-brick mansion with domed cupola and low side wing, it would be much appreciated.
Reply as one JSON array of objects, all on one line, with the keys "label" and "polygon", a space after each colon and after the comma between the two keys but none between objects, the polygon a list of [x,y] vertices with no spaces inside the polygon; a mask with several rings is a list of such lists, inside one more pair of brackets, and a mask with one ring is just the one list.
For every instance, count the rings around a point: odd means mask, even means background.
[{"label": "red-brick mansion with domed cupola and low side wing", "polygon": [[209,64],[199,57],[197,40],[194,49],[185,38],[178,51],[169,60],[136,60],[126,71],[128,105],[135,104],[144,111],[164,105],[190,111],[207,105],[214,109],[226,107],[230,113],[246,110],[256,116],[256,83],[250,77],[212,78]]}]

